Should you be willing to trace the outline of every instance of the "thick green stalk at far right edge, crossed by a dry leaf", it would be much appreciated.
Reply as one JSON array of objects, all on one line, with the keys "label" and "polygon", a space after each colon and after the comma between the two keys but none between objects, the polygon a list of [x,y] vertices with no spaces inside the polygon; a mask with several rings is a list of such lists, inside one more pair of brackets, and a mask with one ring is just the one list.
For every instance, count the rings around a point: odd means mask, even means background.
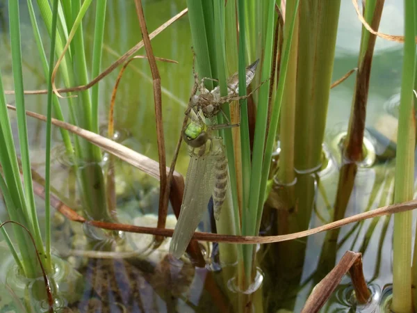
[{"label": "thick green stalk at far right edge, crossed by a dry leaf", "polygon": [[[404,0],[404,59],[398,120],[394,202],[413,198],[414,189],[414,74],[416,71],[415,3]],[[397,313],[413,312],[411,300],[411,222],[412,212],[395,214],[393,242],[393,302]]]}]

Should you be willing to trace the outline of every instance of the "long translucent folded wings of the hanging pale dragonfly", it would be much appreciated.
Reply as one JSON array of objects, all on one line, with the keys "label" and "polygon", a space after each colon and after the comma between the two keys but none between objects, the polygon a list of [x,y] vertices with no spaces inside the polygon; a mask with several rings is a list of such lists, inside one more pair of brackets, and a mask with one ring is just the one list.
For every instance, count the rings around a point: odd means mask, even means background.
[{"label": "long translucent folded wings of the hanging pale dragonfly", "polygon": [[170,243],[170,253],[174,257],[183,255],[207,209],[214,188],[215,159],[211,154],[202,157],[192,155],[190,159],[181,212]]}]

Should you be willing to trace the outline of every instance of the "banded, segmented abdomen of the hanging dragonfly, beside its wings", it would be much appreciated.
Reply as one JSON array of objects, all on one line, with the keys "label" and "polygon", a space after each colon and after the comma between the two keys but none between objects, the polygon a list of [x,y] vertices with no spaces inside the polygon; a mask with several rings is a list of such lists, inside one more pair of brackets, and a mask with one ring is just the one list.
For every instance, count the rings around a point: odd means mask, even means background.
[{"label": "banded, segmented abdomen of the hanging dragonfly, beside its wings", "polygon": [[214,190],[213,190],[213,208],[214,216],[218,219],[220,209],[226,199],[227,191],[227,158],[226,155],[222,154],[219,156],[214,166]]}]

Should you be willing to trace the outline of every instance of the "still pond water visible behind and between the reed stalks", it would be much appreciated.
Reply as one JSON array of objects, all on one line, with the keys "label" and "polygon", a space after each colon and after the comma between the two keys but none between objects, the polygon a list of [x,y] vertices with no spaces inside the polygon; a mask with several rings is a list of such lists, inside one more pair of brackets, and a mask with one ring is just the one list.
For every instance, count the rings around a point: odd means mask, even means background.
[{"label": "still pond water visible behind and between the reed stalks", "polygon": [[[185,0],[147,0],[142,2],[149,33],[186,8]],[[26,1],[20,1],[20,3],[22,4],[25,89],[44,88],[42,67],[38,55],[33,53],[35,42],[33,41]],[[383,33],[402,34],[402,10],[402,1],[399,3],[396,0],[386,0],[379,30]],[[90,61],[92,54],[92,33],[89,30],[94,28],[94,22],[94,14],[90,13],[83,23],[86,34],[85,53],[88,61]],[[360,36],[361,24],[352,3],[343,0],[338,26],[333,80],[342,77],[345,72],[357,66]],[[141,35],[134,2],[108,0],[102,68],[108,67],[140,40]],[[178,62],[178,64],[158,63],[163,92],[165,149],[167,161],[170,162],[178,136],[181,133],[183,111],[186,109],[190,88],[193,85],[191,74],[193,57],[190,49],[188,17],[182,17],[154,38],[152,47],[155,56],[170,58]],[[142,49],[139,54],[145,54],[145,50]],[[11,90],[13,78],[10,65],[6,0],[0,0],[0,55],[2,56],[0,69],[3,74],[3,83],[6,90]],[[370,129],[367,138],[370,140],[370,146],[375,146],[377,154],[379,154],[378,149],[383,150],[380,147],[383,143],[377,142],[378,138],[375,137],[377,135],[375,132],[373,133],[376,125],[380,124],[383,118],[382,123],[392,122],[393,126],[390,129],[395,131],[395,104],[398,102],[400,91],[401,66],[402,45],[378,38],[370,79],[366,120],[367,127]],[[100,83],[100,125],[103,134],[106,134],[107,112],[117,74],[116,70]],[[310,220],[310,227],[322,225],[332,218],[332,211],[329,208],[335,202],[338,168],[341,165],[337,145],[338,140],[347,130],[353,86],[354,77],[350,77],[341,86],[334,88],[330,94],[325,146],[332,157],[329,158],[327,168],[320,172],[320,186],[316,188],[316,205]],[[13,102],[13,96],[8,96],[7,99],[8,102]],[[46,96],[27,96],[27,109],[46,113],[46,99]],[[63,110],[67,111],[65,104]],[[14,118],[13,113],[12,118]],[[28,119],[28,129],[32,166],[43,175],[45,127],[42,122]],[[118,142],[145,154],[147,157],[158,160],[152,75],[146,59],[133,61],[124,73],[115,102],[115,129],[117,129],[119,136]],[[53,129],[53,140],[52,170],[54,174],[52,175],[52,186],[54,186],[56,193],[67,201],[67,204],[77,207],[79,200],[74,198],[76,182],[71,179],[72,176],[68,171],[70,161],[65,158],[65,150],[60,143],[60,134],[56,128]],[[365,164],[358,169],[345,216],[380,207],[393,193],[393,159],[386,157],[386,159],[378,158],[375,161],[370,155],[370,164],[372,166]],[[176,169],[185,175],[187,165],[188,154],[183,145]],[[117,208],[120,210],[120,220],[126,223],[134,220],[134,223],[138,225],[156,223],[155,218],[150,214],[155,213],[158,208],[158,182],[121,162],[117,162],[116,175],[119,196]],[[37,201],[42,218],[42,200],[38,199]],[[2,202],[0,208],[1,218],[6,220],[6,209]],[[146,218],[142,217],[144,214],[148,214]],[[58,214],[55,218],[54,221],[59,224],[59,227],[58,224],[55,225],[54,230],[55,251],[58,255],[69,259],[72,264],[76,264],[80,273],[88,281],[81,292],[83,299],[95,299],[89,302],[84,301],[84,303],[81,301],[79,308],[73,307],[72,312],[78,312],[77,310],[81,310],[81,312],[224,312],[224,307],[228,306],[227,300],[222,298],[221,293],[219,296],[218,292],[220,291],[215,291],[213,288],[215,281],[219,283],[222,279],[220,278],[221,266],[219,267],[219,264],[214,264],[211,267],[211,270],[214,268],[213,271],[188,265],[182,268],[180,266],[176,276],[167,279],[164,262],[161,262],[167,249],[166,242],[158,251],[152,252],[149,250],[149,240],[152,239],[149,236],[126,235],[125,239],[131,245],[131,250],[121,251],[120,255],[124,255],[124,257],[120,257],[117,253],[99,255],[95,252],[85,251],[85,246],[82,243],[77,248],[78,243],[67,242],[68,237],[74,241],[77,234],[82,237],[83,229],[79,225],[68,223]],[[169,221],[170,224],[167,227],[173,227],[175,219],[170,216]],[[42,220],[41,223],[43,223]],[[346,250],[362,250],[363,252],[363,270],[365,278],[370,282],[370,288],[374,292],[375,301],[370,307],[360,308],[360,312],[379,312],[377,307],[379,298],[382,297],[382,294],[389,294],[392,282],[392,223],[392,218],[389,220],[388,217],[375,221],[366,220],[358,225],[342,227],[338,233],[338,245],[336,250],[332,252],[336,261]],[[204,225],[206,224],[208,223],[204,223]],[[261,294],[265,303],[264,312],[288,312],[288,310],[290,310],[289,312],[300,312],[313,285],[318,282],[317,277],[323,276],[318,272],[325,271],[325,268],[320,266],[320,250],[322,250],[326,236],[325,233],[317,234],[310,236],[306,241],[304,266],[297,269],[300,271],[298,273],[300,286],[291,287],[292,294],[283,291],[288,288],[287,284],[291,285],[291,282],[284,282],[279,278],[279,271],[274,268],[277,266],[276,264],[286,262],[291,264],[290,259],[277,260],[276,255],[271,253],[275,248],[279,251],[282,246],[270,245],[270,248],[261,248],[259,262],[265,275]],[[82,241],[82,238],[80,240]],[[211,247],[206,246],[206,249],[209,248]],[[131,254],[129,255],[129,253]],[[263,261],[261,255],[265,257],[266,261]],[[3,264],[6,262],[6,256],[7,253],[2,254]],[[227,271],[227,266],[223,268],[223,271]],[[223,292],[225,292],[225,286],[226,284],[222,287]],[[350,279],[345,277],[338,291],[325,305],[322,312],[354,312],[350,304],[351,294]],[[214,301],[217,304],[214,307],[211,298],[217,299]],[[4,303],[0,302],[1,304]],[[89,311],[85,311],[87,310],[85,307],[89,307]],[[290,307],[292,309],[288,309]],[[282,310],[278,311],[279,309]],[[3,311],[0,310],[0,312]]]}]

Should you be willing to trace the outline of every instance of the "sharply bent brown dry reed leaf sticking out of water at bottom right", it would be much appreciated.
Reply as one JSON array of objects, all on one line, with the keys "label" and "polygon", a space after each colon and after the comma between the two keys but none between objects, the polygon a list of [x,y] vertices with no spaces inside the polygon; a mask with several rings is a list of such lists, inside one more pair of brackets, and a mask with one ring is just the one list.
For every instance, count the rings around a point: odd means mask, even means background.
[{"label": "sharply bent brown dry reed leaf sticking out of water at bottom right", "polygon": [[336,266],[311,291],[301,313],[316,313],[332,296],[343,276],[350,272],[355,295],[359,303],[364,304],[370,297],[362,271],[362,254],[346,251]]}]

